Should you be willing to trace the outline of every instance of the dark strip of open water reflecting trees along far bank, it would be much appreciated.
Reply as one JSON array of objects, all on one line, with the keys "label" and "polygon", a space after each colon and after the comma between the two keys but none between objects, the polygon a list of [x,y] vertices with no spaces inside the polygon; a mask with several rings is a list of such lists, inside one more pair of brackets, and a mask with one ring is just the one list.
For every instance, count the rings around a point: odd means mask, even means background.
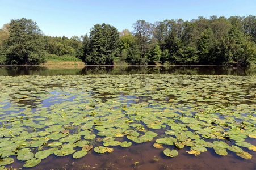
[{"label": "dark strip of open water reflecting trees along far bank", "polygon": [[256,67],[228,66],[0,66],[0,75],[84,75],[84,74],[187,74],[240,75],[256,74]]}]

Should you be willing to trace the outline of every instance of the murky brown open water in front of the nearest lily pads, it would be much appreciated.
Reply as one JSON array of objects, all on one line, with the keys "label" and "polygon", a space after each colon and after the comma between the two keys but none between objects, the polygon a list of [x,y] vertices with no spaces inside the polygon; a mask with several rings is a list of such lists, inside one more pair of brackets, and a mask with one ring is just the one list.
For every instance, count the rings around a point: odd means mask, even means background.
[{"label": "murky brown open water in front of the nearest lily pads", "polygon": [[[232,152],[228,152],[227,156],[219,156],[211,148],[198,156],[190,155],[186,153],[188,147],[179,150],[177,157],[167,158],[163,149],[154,148],[153,143],[133,143],[129,148],[114,147],[114,152],[110,154],[96,154],[91,150],[80,159],[74,159],[72,155],[62,158],[52,154],[30,169],[256,169],[256,154],[250,150],[246,151],[253,156],[249,160],[238,158]],[[255,144],[256,140],[252,143]],[[18,163],[16,165],[19,166]]]}]

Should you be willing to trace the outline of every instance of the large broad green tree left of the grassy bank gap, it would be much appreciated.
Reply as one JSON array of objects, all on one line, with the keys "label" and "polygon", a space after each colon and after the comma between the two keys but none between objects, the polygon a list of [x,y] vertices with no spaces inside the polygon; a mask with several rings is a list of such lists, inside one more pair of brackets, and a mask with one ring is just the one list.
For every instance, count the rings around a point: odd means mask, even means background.
[{"label": "large broad green tree left of the grassy bank gap", "polygon": [[11,20],[9,32],[7,64],[37,65],[45,62],[45,41],[36,22],[25,18]]}]

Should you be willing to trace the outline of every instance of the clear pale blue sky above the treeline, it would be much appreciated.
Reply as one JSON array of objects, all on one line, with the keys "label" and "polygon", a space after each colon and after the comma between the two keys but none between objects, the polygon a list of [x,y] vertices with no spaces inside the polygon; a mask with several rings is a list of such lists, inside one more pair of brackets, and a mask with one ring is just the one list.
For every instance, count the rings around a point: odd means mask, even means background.
[{"label": "clear pale blue sky above the treeline", "polygon": [[0,28],[11,19],[31,19],[47,36],[90,34],[95,24],[133,31],[137,20],[149,23],[199,16],[256,15],[256,0],[0,0]]}]

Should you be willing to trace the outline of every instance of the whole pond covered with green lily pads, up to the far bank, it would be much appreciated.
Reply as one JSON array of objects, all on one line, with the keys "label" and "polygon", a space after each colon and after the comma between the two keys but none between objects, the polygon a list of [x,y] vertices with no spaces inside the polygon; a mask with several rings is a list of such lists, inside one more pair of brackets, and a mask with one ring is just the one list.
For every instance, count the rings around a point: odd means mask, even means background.
[{"label": "whole pond covered with green lily pads, up to the far bank", "polygon": [[1,169],[256,169],[253,67],[90,68],[0,69]]}]

